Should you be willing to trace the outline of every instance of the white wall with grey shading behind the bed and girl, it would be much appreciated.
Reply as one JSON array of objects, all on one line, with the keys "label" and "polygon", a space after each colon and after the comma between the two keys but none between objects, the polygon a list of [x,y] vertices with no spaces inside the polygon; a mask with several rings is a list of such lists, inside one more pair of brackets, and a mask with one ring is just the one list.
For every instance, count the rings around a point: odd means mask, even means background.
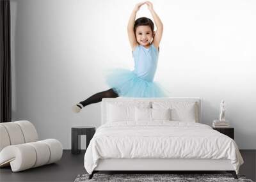
[{"label": "white wall with grey shading behind the bed and girl", "polygon": [[[126,33],[140,1],[11,0],[13,121],[70,149],[73,125],[100,125],[100,103],[71,107],[109,89],[102,73],[133,68]],[[241,149],[256,149],[256,1],[152,1],[164,24],[155,80],[173,97],[200,96],[203,123],[219,115]],[[138,17],[151,17],[147,6]],[[152,18],[152,17],[151,17]]]}]

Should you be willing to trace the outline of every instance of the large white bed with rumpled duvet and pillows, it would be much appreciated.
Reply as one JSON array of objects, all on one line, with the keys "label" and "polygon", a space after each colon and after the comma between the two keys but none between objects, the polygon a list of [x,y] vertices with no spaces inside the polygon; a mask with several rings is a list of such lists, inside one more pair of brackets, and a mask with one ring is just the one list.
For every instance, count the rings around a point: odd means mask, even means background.
[{"label": "large white bed with rumpled duvet and pillows", "polygon": [[237,178],[236,142],[201,123],[200,98],[104,98],[102,125],[84,155],[99,171],[227,171]]}]

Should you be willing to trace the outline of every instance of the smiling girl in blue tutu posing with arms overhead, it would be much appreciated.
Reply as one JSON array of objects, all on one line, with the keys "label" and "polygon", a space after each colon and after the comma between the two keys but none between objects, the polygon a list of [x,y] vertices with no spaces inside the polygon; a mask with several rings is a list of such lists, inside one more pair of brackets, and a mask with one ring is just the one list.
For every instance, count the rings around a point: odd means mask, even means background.
[{"label": "smiling girl in blue tutu posing with arms overhead", "polygon": [[[157,26],[156,31],[154,31],[152,20],[146,17],[135,20],[136,13],[143,4],[147,4],[148,10],[152,14]],[[130,71],[123,68],[109,70],[108,75],[106,75],[106,82],[111,89],[96,93],[77,103],[72,107],[74,112],[80,112],[86,105],[100,102],[102,98],[116,98],[118,96],[156,98],[168,95],[168,91],[159,83],[153,82],[157,68],[159,43],[163,34],[163,23],[153,10],[152,3],[145,1],[136,4],[128,22],[127,32],[134,58],[134,70]]]}]

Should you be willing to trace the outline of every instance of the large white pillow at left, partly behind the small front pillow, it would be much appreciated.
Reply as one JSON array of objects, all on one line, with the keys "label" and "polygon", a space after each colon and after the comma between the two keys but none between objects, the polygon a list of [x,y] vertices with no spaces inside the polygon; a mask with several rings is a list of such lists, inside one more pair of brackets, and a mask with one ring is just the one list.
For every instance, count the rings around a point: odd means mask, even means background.
[{"label": "large white pillow at left, partly behind the small front pillow", "polygon": [[106,107],[106,122],[135,121],[135,107],[149,108],[150,103],[113,102]]}]

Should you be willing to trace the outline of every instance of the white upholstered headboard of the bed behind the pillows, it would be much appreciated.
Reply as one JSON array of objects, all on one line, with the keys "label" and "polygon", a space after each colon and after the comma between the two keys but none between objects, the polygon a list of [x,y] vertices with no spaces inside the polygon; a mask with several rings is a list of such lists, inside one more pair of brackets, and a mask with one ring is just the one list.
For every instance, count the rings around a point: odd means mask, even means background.
[{"label": "white upholstered headboard of the bed behind the pillows", "polygon": [[125,97],[118,97],[118,98],[103,98],[101,102],[101,124],[103,125],[106,123],[107,118],[107,109],[109,103],[121,103],[124,105],[138,105],[140,103],[150,105],[152,106],[152,102],[173,102],[173,103],[179,103],[179,102],[189,102],[189,103],[195,103],[196,104],[196,115],[198,118],[198,123],[201,123],[201,99],[198,97],[193,98],[185,98],[185,97],[166,97],[166,98],[125,98]]}]

